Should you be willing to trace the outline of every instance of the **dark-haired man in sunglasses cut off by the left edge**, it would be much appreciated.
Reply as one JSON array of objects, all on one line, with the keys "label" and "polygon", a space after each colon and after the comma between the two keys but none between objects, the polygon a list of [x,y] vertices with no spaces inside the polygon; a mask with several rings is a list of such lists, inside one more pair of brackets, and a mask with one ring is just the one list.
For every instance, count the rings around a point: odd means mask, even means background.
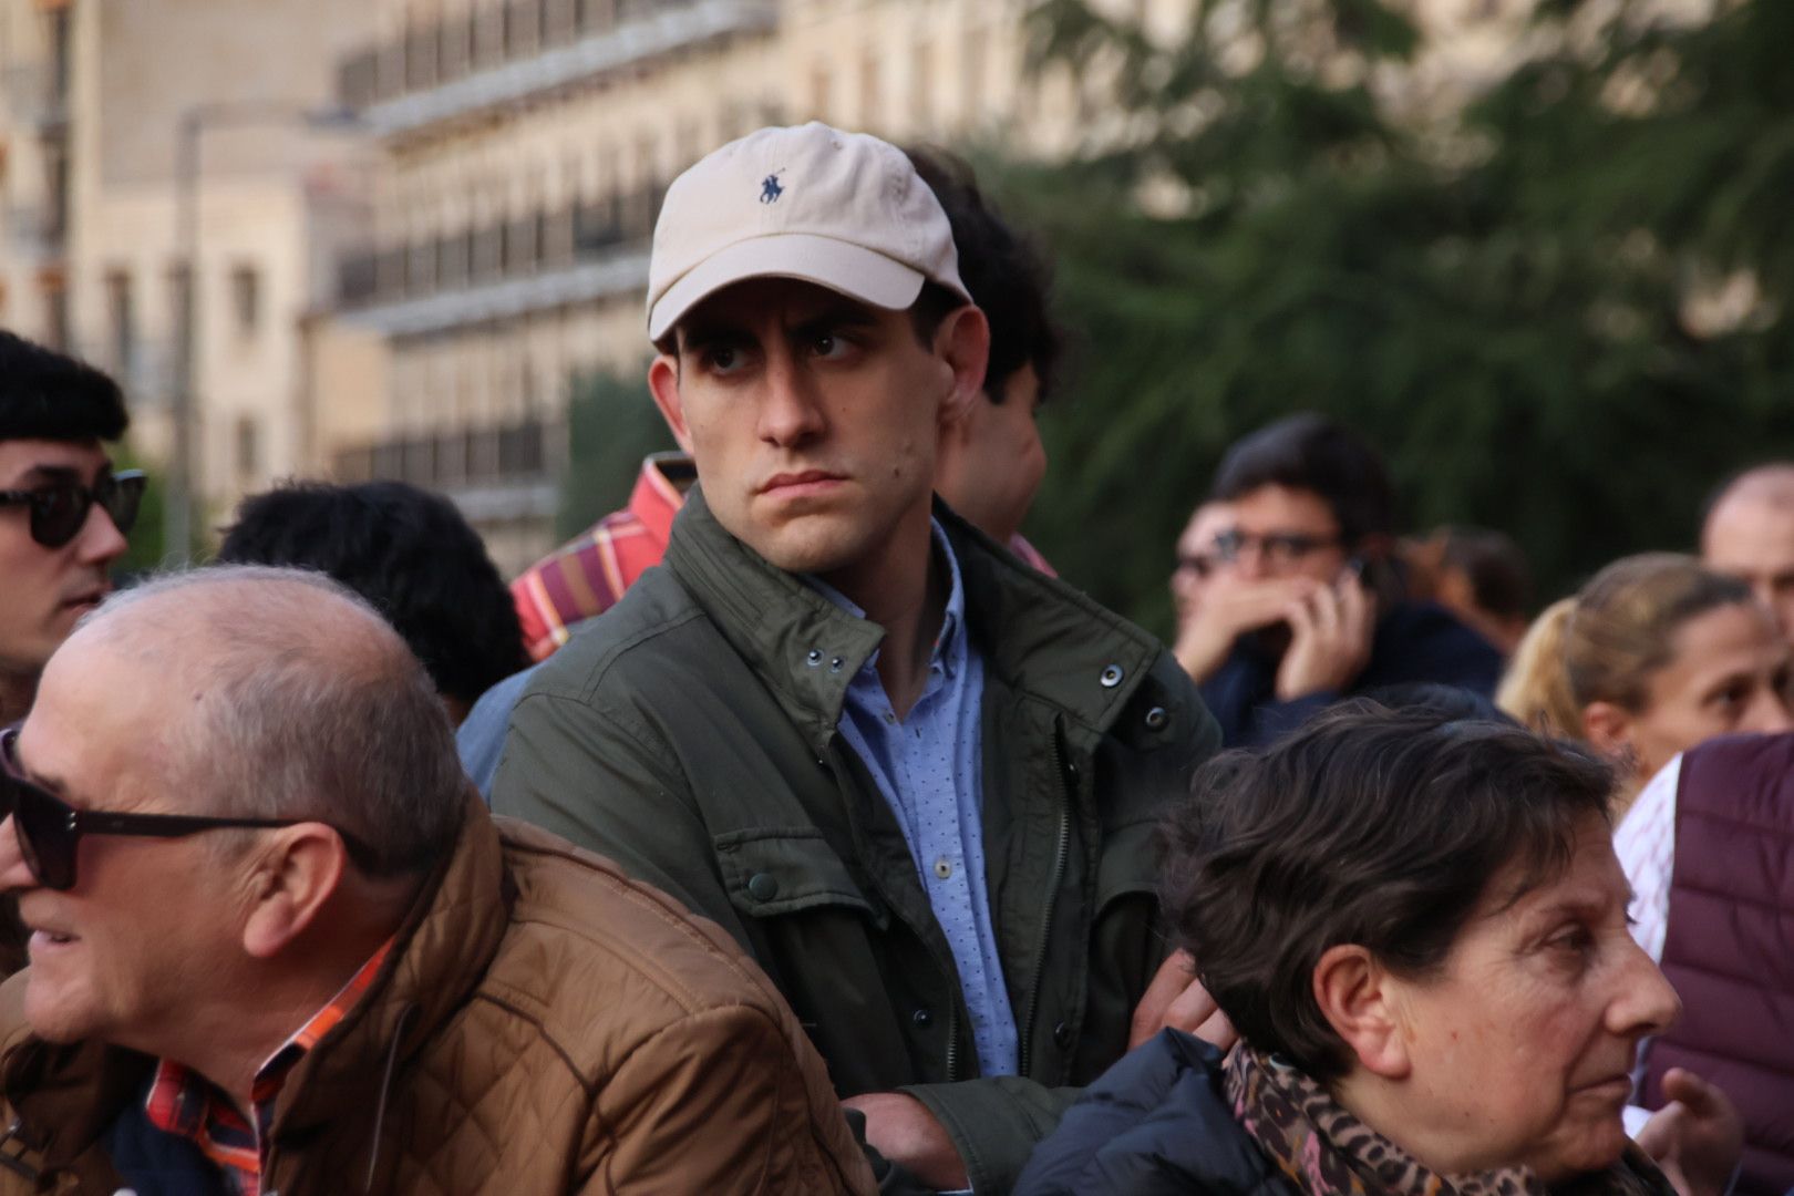
[{"label": "dark-haired man in sunglasses cut off by the left edge", "polygon": [[144,493],[144,475],[113,473],[106,455],[126,423],[104,373],[0,330],[0,726],[30,708],[50,653],[111,590]]}]

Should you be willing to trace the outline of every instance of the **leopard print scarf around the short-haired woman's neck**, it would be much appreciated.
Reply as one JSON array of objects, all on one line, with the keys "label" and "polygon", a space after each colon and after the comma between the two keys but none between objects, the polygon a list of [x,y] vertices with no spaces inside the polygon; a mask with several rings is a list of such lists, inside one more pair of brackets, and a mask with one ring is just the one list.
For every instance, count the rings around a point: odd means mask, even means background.
[{"label": "leopard print scarf around the short-haired woman's neck", "polygon": [[1676,1196],[1634,1146],[1546,1189],[1525,1167],[1442,1176],[1346,1112],[1306,1072],[1240,1044],[1225,1067],[1234,1119],[1306,1196]]}]

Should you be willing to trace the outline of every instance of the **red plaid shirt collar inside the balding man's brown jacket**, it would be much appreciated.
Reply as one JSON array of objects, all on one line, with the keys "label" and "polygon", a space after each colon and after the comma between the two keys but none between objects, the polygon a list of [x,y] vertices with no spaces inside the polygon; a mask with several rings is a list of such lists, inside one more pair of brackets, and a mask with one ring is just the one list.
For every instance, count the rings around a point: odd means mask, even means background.
[{"label": "red plaid shirt collar inside the balding man's brown jacket", "polygon": [[368,992],[368,984],[380,972],[391,949],[393,940],[386,940],[350,977],[350,983],[257,1069],[249,1087],[255,1126],[244,1122],[242,1114],[217,1085],[170,1060],[156,1062],[149,1099],[144,1103],[149,1124],[197,1146],[199,1153],[219,1169],[233,1196],[258,1196],[262,1164],[267,1158],[267,1131],[274,1121],[274,1099],[280,1096],[280,1088],[298,1062],[305,1058],[305,1053],[335,1029],[361,995]]}]

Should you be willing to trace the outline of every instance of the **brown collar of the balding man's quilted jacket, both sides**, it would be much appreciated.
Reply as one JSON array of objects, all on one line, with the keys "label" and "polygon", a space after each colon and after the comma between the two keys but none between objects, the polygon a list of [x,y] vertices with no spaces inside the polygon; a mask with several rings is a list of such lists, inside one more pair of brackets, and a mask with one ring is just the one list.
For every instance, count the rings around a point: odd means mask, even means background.
[{"label": "brown collar of the balding man's quilted jacket, both sides", "polygon": [[[509,882],[492,816],[468,791],[466,818],[450,857],[425,882],[400,925],[386,966],[344,1018],[287,1076],[274,1105],[273,1137],[343,1122],[362,1110],[357,1133],[371,1137],[370,1085],[396,1069],[466,1002],[497,954],[509,922]],[[0,1017],[25,1026],[23,979],[5,988]],[[54,1166],[88,1151],[126,1101],[142,1094],[152,1062],[102,1044],[52,1045],[29,1031],[5,1044],[0,1083],[27,1128],[27,1146]],[[384,1092],[375,1094],[384,1105]],[[366,1160],[350,1162],[350,1167]]]}]

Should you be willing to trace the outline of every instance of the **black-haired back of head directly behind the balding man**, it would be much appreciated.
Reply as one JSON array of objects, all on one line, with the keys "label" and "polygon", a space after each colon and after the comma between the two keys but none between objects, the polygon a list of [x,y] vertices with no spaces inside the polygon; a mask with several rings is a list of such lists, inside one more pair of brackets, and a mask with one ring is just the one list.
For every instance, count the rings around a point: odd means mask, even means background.
[{"label": "black-haired back of head directly behind the balding man", "polygon": [[511,592],[452,502],[405,482],[294,482],[237,507],[217,559],[298,565],[361,594],[436,689],[474,703],[529,665]]}]

